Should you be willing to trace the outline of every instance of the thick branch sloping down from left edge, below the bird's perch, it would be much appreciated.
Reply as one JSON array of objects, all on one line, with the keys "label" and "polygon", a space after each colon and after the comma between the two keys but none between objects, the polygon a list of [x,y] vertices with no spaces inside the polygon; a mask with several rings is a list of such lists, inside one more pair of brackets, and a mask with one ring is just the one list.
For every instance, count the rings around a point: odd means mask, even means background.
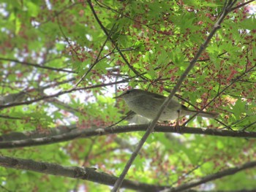
[{"label": "thick branch sloping down from left edge, below the bird's perch", "polygon": [[[63,177],[71,177],[81,180],[89,180],[103,185],[114,185],[118,177],[104,172],[96,172],[94,168],[80,166],[61,166],[59,164],[49,164],[45,162],[33,161],[30,159],[10,158],[0,155],[0,166],[13,169],[23,169],[42,174],[53,174]],[[148,185],[138,181],[124,180],[123,188],[130,188],[137,191],[160,191],[164,186]]]}]

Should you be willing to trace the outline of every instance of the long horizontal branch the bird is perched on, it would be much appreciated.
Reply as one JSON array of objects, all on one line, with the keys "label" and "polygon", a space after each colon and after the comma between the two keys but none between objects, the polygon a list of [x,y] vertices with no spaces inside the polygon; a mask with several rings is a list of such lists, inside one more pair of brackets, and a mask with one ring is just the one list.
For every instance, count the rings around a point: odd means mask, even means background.
[{"label": "long horizontal branch the bird is perched on", "polygon": [[[14,132],[14,136],[11,134],[5,134],[0,137],[0,149],[16,148],[16,147],[32,147],[36,145],[50,145],[56,142],[67,142],[72,139],[96,137],[108,134],[129,133],[135,131],[146,131],[146,125],[138,126],[115,126],[107,128],[86,128],[80,129],[75,125],[69,127],[58,128],[57,131],[49,131],[50,134],[38,134],[26,133],[26,132]],[[177,133],[174,126],[156,126],[154,132],[162,133]],[[240,137],[240,138],[256,138],[256,132],[247,131],[230,131],[220,130],[216,128],[192,128],[183,127],[179,131],[180,134],[202,134],[219,137]]]}]

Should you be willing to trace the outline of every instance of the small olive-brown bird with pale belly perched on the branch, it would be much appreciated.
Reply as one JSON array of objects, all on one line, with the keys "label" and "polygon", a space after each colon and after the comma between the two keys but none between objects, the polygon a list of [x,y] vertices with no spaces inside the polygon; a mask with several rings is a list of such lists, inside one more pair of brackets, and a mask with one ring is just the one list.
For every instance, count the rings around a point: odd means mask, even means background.
[{"label": "small olive-brown bird with pale belly perched on the branch", "polygon": [[[140,89],[124,91],[120,96],[114,97],[114,99],[118,98],[124,99],[130,110],[151,120],[156,117],[157,112],[159,112],[162,103],[166,99],[165,96]],[[172,99],[162,112],[159,120],[175,120],[184,115],[195,114],[203,118],[216,118],[217,115],[219,115],[217,112],[197,112],[189,110],[183,104],[179,104],[178,101]]]}]

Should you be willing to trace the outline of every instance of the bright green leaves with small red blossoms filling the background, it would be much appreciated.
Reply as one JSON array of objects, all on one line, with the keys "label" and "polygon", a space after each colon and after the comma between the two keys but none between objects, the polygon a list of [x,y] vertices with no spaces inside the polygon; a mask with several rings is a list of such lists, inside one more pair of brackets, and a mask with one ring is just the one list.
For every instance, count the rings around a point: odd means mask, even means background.
[{"label": "bright green leaves with small red blossoms filling the background", "polygon": [[[58,126],[74,124],[80,129],[110,126],[128,111],[122,101],[112,99],[127,88],[167,96],[224,4],[211,0],[0,2],[2,136],[50,134]],[[196,118],[187,126],[255,131],[253,10],[255,2],[227,16],[178,91],[188,107],[207,105],[206,110],[219,112],[219,122]],[[1,149],[1,155],[97,167],[98,172],[118,176],[142,136],[143,132],[110,134]],[[127,178],[178,186],[255,158],[255,139],[154,133]],[[5,191],[109,189],[84,180],[0,169]],[[246,169],[196,189],[255,189],[255,174],[255,169]]]}]

